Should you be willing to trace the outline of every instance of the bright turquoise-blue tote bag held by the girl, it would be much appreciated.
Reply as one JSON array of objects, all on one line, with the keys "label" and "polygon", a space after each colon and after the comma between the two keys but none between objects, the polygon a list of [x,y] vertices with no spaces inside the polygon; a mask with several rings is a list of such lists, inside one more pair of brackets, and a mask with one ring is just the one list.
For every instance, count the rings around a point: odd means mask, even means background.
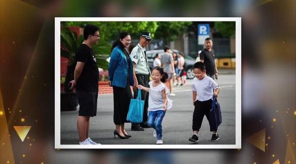
[{"label": "bright turquoise-blue tote bag held by the girl", "polygon": [[144,102],[145,100],[142,100],[141,90],[139,90],[137,98],[131,99],[127,117],[126,117],[127,121],[133,124],[143,122]]}]

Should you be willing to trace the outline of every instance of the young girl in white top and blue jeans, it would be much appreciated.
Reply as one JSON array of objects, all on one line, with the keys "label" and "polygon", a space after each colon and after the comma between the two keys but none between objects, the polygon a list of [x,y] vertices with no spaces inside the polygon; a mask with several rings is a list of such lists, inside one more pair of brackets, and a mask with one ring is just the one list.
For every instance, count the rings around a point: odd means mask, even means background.
[{"label": "young girl in white top and blue jeans", "polygon": [[152,80],[148,84],[150,88],[138,85],[138,89],[149,92],[148,98],[148,122],[149,127],[154,128],[153,136],[157,138],[156,144],[162,144],[161,122],[167,109],[172,107],[172,100],[168,98],[169,91],[163,84],[168,78],[168,74],[160,66],[152,69]]}]

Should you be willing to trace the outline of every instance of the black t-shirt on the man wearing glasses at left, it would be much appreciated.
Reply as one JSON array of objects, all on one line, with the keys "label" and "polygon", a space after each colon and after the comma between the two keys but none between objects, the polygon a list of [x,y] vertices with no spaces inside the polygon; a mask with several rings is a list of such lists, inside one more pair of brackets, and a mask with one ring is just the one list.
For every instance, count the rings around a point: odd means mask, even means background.
[{"label": "black t-shirt on the man wearing glasses at left", "polygon": [[76,82],[77,91],[99,90],[99,69],[94,52],[86,44],[81,44],[75,54],[76,62],[83,62],[82,72]]}]

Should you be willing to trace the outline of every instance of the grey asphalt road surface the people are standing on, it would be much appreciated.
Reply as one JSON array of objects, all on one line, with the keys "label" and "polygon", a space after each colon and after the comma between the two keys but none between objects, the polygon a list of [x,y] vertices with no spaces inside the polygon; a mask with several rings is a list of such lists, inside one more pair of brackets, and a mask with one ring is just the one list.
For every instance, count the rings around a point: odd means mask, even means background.
[{"label": "grey asphalt road surface the people are standing on", "polygon": [[[174,87],[175,97],[172,109],[166,112],[162,122],[163,144],[192,144],[188,138],[192,135],[192,105],[191,81],[186,85]],[[211,142],[212,133],[209,123],[204,117],[198,144],[235,144],[235,74],[222,74],[217,81],[221,86],[218,100],[222,110],[222,124],[218,129],[220,140]],[[61,112],[61,144],[78,144],[76,130],[76,111]],[[114,139],[113,131],[113,95],[99,95],[97,116],[90,119],[89,136],[93,141],[101,144],[155,144],[153,129],[145,131],[131,131],[131,124],[127,123],[126,131],[132,135],[129,139]]]}]

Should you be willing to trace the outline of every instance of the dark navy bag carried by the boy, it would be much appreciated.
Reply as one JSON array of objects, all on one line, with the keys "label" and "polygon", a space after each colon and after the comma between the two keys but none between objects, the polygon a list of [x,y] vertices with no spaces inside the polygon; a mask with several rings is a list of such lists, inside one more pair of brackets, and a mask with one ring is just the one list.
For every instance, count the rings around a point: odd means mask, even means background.
[{"label": "dark navy bag carried by the boy", "polygon": [[211,124],[211,127],[214,128],[214,130],[211,130],[211,131],[217,131],[219,125],[222,123],[222,114],[221,114],[220,104],[217,98],[215,98],[215,96],[213,96],[209,122]]}]

